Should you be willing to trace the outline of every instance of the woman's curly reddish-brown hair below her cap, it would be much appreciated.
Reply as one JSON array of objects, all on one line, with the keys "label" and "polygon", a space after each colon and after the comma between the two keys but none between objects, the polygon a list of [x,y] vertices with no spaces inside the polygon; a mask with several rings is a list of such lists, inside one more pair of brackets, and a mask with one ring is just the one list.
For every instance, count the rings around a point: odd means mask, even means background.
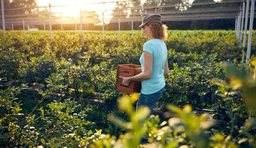
[{"label": "woman's curly reddish-brown hair below her cap", "polygon": [[147,23],[151,28],[151,34],[154,39],[166,40],[168,37],[166,25],[160,23]]}]

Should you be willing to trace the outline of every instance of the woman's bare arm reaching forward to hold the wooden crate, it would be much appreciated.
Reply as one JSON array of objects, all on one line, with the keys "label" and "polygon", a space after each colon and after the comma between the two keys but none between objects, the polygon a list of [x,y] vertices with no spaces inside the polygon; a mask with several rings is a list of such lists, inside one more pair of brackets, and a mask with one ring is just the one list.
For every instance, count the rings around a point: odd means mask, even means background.
[{"label": "woman's bare arm reaching forward to hold the wooden crate", "polygon": [[122,85],[128,86],[131,81],[142,81],[151,78],[153,71],[153,55],[148,51],[143,51],[144,71],[133,77],[121,77],[123,79]]}]

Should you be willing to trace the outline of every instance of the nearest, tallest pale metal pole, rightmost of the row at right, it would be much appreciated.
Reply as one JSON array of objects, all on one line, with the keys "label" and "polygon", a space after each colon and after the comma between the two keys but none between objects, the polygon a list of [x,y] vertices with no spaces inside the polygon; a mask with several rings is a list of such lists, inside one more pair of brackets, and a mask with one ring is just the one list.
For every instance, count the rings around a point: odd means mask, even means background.
[{"label": "nearest, tallest pale metal pole, rightmost of the row at right", "polygon": [[250,49],[251,49],[252,33],[253,33],[254,5],[255,5],[255,0],[252,0],[251,13],[250,13],[249,38],[248,38],[247,57],[246,57],[246,63],[247,63],[246,73],[247,74],[249,72],[249,64],[250,64]]}]

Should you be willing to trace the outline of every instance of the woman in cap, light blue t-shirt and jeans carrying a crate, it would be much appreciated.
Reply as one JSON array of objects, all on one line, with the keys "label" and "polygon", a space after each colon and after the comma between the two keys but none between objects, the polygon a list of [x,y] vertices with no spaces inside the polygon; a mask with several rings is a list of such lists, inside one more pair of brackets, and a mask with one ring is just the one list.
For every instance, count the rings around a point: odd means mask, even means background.
[{"label": "woman in cap, light blue t-shirt and jeans carrying a crate", "polygon": [[165,90],[164,75],[168,74],[167,48],[163,42],[167,38],[167,26],[162,24],[160,14],[149,14],[143,17],[143,23],[139,27],[143,28],[143,33],[151,39],[143,45],[140,57],[142,73],[120,78],[123,79],[122,85],[125,86],[131,81],[141,81],[137,109],[147,106],[152,112]]}]

